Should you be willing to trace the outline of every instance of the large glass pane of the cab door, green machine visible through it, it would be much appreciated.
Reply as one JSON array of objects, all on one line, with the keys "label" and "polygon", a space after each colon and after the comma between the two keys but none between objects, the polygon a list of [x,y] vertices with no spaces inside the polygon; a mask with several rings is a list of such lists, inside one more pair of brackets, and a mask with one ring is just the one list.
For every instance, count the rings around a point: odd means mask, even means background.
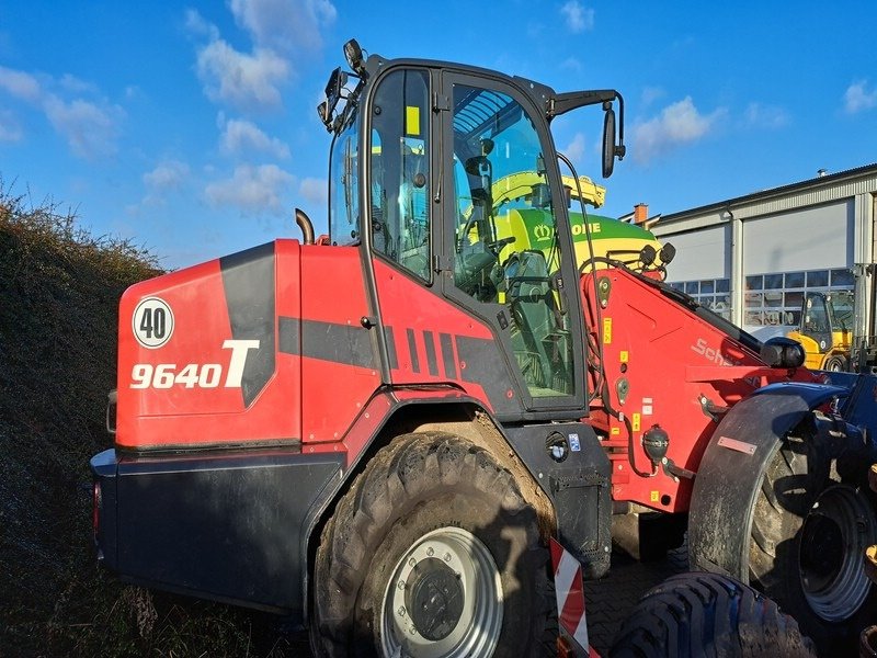
[{"label": "large glass pane of the cab door, green machine visible through it", "polygon": [[452,121],[454,285],[506,309],[490,315],[510,318],[512,349],[533,397],[572,394],[571,339],[554,285],[560,247],[539,135],[513,98],[465,84],[454,86]]}]

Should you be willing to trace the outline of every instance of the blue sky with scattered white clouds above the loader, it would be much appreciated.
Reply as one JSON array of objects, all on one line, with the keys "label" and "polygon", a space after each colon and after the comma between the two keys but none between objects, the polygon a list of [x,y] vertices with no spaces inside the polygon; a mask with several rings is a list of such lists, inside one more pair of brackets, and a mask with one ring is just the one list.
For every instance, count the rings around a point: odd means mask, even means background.
[{"label": "blue sky with scattered white clouds above the loader", "polygon": [[670,214],[877,161],[877,2],[57,2],[0,0],[0,177],[180,268],[326,230],[315,107],[355,37],[558,91],[615,88],[628,157],[599,175],[601,114],[556,122],[601,214]]}]

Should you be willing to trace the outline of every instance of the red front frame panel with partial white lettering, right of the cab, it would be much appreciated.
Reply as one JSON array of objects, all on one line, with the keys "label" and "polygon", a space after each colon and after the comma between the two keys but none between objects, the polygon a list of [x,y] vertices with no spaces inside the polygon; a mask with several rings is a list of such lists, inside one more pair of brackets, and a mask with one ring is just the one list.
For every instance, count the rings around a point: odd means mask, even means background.
[{"label": "red front frame panel with partial white lettering, right of the cab", "polygon": [[[593,275],[582,279],[585,324],[593,344],[602,345],[611,406],[633,429],[634,464],[651,473],[642,435],[660,424],[670,436],[668,457],[677,466],[697,470],[716,423],[704,412],[701,397],[729,407],[768,382],[812,382],[805,368],[767,368],[760,356],[658,288],[623,270],[596,274],[607,290],[605,305],[594,292]],[[591,373],[591,386],[594,385]],[[654,477],[635,472],[628,454],[625,423],[594,401],[592,424],[601,428],[613,463],[613,498],[663,511],[688,507],[692,480]]]}]

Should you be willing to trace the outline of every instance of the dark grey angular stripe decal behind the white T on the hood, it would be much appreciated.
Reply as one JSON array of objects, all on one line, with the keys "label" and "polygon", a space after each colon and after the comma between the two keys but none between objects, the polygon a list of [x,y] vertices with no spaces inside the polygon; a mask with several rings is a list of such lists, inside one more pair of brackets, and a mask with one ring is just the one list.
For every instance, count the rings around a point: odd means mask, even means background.
[{"label": "dark grey angular stripe decal behind the white T on the hood", "polygon": [[274,242],[219,259],[231,338],[258,340],[241,378],[249,407],[274,374]]}]

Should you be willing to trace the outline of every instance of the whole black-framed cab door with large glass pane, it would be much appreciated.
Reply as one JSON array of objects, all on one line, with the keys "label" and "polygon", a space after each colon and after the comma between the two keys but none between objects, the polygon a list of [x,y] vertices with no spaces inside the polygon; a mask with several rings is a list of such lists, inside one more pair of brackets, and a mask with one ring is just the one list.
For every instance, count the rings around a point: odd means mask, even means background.
[{"label": "whole black-framed cab door with large glass pane", "polygon": [[[502,367],[505,396],[523,412],[580,417],[578,271],[542,110],[501,80],[447,71],[441,80],[441,292],[493,337],[460,360]],[[500,194],[524,172],[540,182],[519,198]]]}]

